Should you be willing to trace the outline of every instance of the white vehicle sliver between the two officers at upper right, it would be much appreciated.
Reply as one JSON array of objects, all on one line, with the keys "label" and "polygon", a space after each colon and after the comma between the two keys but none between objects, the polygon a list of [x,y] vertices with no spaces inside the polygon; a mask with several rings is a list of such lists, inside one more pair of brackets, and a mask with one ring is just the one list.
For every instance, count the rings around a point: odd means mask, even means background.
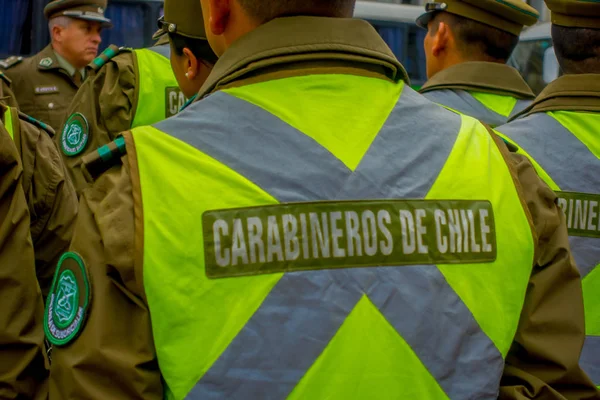
[{"label": "white vehicle sliver between the two officers at upper right", "polygon": [[534,25],[521,34],[509,65],[515,67],[536,94],[561,74],[554,53],[549,22]]}]

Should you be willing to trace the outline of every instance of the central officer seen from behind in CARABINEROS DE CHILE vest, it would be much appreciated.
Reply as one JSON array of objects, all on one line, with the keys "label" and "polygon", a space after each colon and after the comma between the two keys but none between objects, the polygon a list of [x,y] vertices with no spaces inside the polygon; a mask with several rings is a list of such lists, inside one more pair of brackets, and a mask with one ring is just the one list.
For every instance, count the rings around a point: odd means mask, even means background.
[{"label": "central officer seen from behind in CARABINEROS DE CHILE vest", "polygon": [[354,0],[200,3],[196,101],[81,196],[51,399],[597,398],[526,157],[414,92]]}]

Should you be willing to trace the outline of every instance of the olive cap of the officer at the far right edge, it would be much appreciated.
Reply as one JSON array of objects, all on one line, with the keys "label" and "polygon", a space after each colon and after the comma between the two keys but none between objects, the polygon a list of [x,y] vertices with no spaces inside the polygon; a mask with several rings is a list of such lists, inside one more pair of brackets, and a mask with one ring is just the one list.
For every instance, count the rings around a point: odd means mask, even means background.
[{"label": "olive cap of the officer at the far right edge", "polygon": [[555,25],[600,29],[599,0],[546,0]]}]

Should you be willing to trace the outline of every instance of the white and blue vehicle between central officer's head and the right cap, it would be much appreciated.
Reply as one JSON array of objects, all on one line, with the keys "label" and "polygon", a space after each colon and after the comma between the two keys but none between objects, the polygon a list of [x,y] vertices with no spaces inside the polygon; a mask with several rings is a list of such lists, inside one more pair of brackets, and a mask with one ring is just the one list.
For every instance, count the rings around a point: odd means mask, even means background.
[{"label": "white and blue vehicle between central officer's head and the right cap", "polygon": [[354,17],[367,20],[404,65],[414,88],[427,80],[423,40],[427,32],[415,21],[423,6],[357,1]]}]

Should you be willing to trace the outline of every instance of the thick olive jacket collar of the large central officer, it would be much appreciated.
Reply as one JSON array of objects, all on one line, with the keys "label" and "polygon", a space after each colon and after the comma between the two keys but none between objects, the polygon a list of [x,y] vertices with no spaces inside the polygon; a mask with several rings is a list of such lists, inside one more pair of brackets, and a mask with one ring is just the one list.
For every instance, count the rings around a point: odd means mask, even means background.
[{"label": "thick olive jacket collar of the large central officer", "polygon": [[299,61],[342,61],[383,67],[385,75],[408,75],[375,29],[365,21],[345,18],[276,18],[237,40],[221,56],[198,99],[251,73]]}]

